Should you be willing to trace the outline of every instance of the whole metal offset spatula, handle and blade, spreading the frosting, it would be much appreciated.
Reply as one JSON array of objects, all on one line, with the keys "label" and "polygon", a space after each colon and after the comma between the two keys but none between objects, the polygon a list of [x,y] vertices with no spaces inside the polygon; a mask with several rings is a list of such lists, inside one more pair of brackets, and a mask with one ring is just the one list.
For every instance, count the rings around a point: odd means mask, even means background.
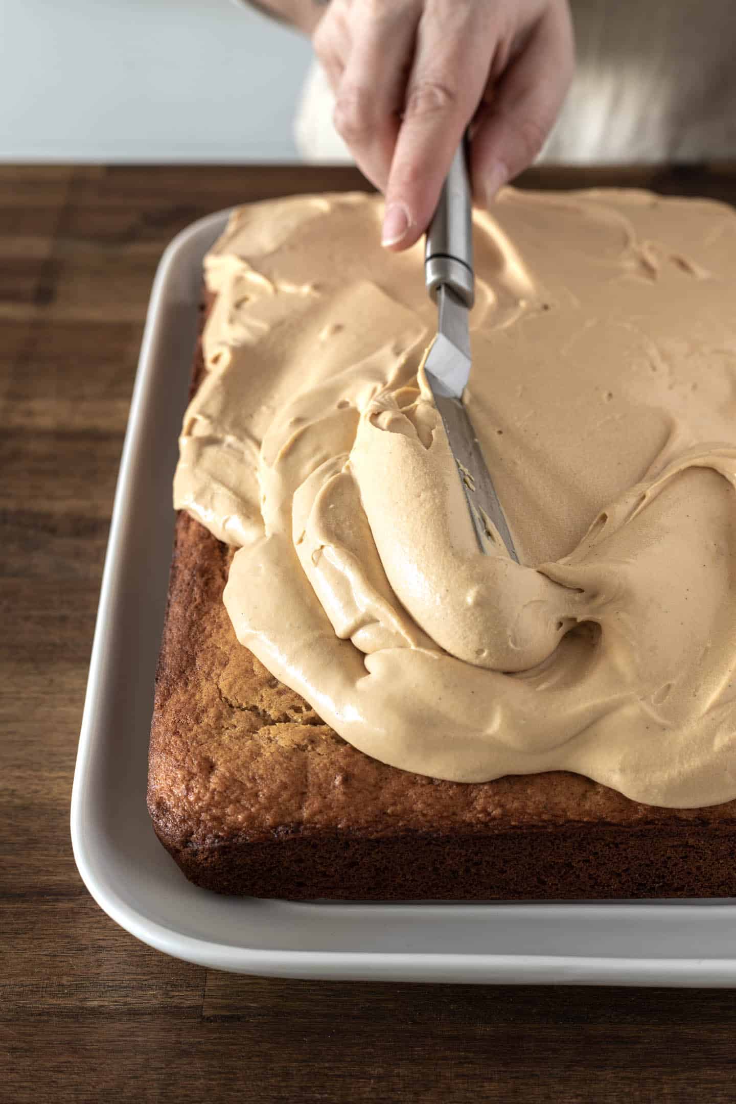
[{"label": "whole metal offset spatula, handle and blade, spreading the frosting", "polygon": [[468,315],[476,297],[472,267],[472,201],[465,142],[460,146],[427,232],[427,290],[437,302],[437,337],[425,362],[427,383],[447,433],[481,552],[489,551],[487,518],[509,555],[519,556],[493,488],[462,393],[470,378]]}]

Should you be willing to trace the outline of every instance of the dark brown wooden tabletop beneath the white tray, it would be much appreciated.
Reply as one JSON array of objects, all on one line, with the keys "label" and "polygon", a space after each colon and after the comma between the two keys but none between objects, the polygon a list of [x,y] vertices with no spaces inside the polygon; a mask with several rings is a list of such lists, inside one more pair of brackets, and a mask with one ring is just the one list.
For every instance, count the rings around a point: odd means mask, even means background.
[{"label": "dark brown wooden tabletop beneath the white tray", "polygon": [[[525,182],[736,202],[728,167]],[[732,990],[231,976],[138,943],[76,872],[77,734],[157,261],[211,211],[356,185],[348,169],[0,168],[0,1098],[736,1101]]]}]

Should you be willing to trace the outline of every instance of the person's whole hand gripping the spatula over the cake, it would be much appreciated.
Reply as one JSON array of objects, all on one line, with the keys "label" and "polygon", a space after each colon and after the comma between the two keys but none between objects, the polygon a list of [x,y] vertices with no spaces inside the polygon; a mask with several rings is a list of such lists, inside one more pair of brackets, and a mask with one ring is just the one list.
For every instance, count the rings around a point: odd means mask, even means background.
[{"label": "person's whole hand gripping the spatula over the cake", "polygon": [[538,153],[574,68],[567,0],[332,0],[313,45],[396,251],[426,231],[466,127],[488,205]]}]

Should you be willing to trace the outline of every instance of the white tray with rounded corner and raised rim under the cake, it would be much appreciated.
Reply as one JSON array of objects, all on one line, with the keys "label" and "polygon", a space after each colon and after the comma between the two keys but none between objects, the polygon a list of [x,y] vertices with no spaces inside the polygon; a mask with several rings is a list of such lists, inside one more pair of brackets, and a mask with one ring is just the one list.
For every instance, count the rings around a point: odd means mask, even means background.
[{"label": "white tray with rounded corner and raised rim under the cake", "polygon": [[122,927],[190,962],[310,978],[736,985],[736,902],[288,902],[190,884],[146,807],[153,676],[202,258],[183,231],[153,284],[115,497],[72,795],[74,856]]}]

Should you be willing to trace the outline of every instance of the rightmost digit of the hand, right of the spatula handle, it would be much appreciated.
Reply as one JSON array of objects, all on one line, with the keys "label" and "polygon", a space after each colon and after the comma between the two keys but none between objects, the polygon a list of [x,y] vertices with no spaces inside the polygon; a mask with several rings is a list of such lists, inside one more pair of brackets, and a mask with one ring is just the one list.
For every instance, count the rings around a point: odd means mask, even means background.
[{"label": "rightmost digit of the hand, right of the spatula handle", "polygon": [[524,50],[489,88],[473,124],[471,174],[478,200],[532,163],[552,130],[575,66],[566,6],[547,9]]}]

